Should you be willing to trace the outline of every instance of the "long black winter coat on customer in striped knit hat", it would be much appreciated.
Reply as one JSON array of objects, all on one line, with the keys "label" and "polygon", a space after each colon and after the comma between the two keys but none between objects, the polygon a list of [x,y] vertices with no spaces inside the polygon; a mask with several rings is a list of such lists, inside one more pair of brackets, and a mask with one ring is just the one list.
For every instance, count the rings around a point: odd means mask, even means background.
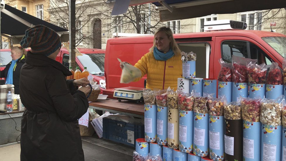
[{"label": "long black winter coat on customer in striped knit hat", "polygon": [[85,94],[71,72],[44,55],[28,52],[20,74],[20,97],[27,111],[21,125],[21,161],[84,160],[77,119],[87,112]]}]

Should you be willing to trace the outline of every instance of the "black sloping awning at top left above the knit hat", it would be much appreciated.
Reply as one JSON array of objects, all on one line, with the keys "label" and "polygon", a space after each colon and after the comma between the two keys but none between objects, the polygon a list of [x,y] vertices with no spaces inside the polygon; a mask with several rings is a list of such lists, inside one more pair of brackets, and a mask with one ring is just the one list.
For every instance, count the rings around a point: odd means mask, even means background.
[{"label": "black sloping awning at top left above the knit hat", "polygon": [[[45,25],[55,30],[56,32],[68,31],[67,29],[58,27],[57,25],[41,20],[37,17],[29,15],[23,11],[20,11],[6,4],[5,4],[5,9],[33,25]],[[1,33],[7,34],[7,35],[24,35],[25,31],[28,28],[30,28],[30,26],[27,26],[21,23],[19,20],[8,16],[7,14],[3,13],[1,10]]]}]

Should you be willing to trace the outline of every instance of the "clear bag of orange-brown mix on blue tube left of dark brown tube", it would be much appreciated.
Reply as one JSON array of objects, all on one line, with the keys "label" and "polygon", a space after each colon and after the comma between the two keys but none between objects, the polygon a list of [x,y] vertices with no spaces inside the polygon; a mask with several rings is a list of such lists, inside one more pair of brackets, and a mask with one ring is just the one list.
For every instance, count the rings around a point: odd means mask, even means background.
[{"label": "clear bag of orange-brown mix on blue tube left of dark brown tube", "polygon": [[209,102],[209,114],[213,116],[223,116],[223,109],[226,105],[226,97],[214,98]]}]

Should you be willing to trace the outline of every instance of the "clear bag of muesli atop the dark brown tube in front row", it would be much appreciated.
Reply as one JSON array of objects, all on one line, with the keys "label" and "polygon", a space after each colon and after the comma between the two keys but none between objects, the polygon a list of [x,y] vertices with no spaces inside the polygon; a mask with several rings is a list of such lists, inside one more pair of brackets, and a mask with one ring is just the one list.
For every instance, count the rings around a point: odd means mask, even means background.
[{"label": "clear bag of muesli atop the dark brown tube in front row", "polygon": [[241,106],[240,102],[230,102],[224,107],[224,118],[229,120],[240,120],[241,117]]}]

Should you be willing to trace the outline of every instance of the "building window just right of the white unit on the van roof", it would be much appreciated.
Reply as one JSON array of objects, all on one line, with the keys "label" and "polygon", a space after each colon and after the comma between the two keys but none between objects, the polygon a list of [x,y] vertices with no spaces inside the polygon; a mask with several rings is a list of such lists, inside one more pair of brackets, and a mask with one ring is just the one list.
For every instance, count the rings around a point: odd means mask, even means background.
[{"label": "building window just right of the white unit on the van roof", "polygon": [[261,30],[262,13],[243,13],[240,20],[247,23],[247,30]]}]

